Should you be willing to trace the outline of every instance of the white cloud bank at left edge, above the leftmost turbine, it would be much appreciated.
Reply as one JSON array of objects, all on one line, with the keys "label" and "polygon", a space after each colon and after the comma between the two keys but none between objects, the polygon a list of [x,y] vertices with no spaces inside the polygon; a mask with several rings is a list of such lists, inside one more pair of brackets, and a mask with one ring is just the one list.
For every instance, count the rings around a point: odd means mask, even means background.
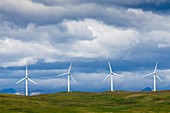
[{"label": "white cloud bank at left edge, above the leftmost turbine", "polygon": [[56,53],[54,48],[40,43],[23,42],[10,38],[0,40],[0,57],[2,58],[0,65],[3,67],[34,64],[37,59],[41,58],[51,61],[50,54]]}]

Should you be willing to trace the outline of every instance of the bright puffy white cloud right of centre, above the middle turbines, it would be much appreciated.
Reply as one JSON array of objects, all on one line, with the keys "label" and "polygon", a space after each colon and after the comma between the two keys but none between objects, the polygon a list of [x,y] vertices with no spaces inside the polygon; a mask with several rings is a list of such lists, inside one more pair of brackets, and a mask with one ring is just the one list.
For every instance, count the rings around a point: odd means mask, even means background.
[{"label": "bright puffy white cloud right of centre, above the middle turbines", "polygon": [[[74,27],[72,22],[69,22]],[[96,20],[86,19],[76,22],[83,24],[91,32],[94,39],[80,40],[73,45],[73,51],[77,57],[89,58],[119,58],[124,56],[124,52],[138,42],[138,32],[130,29],[115,28]],[[76,26],[75,26],[76,27]],[[82,34],[85,32],[82,31]],[[126,37],[125,37],[126,36]],[[123,54],[123,55],[122,55]]]}]

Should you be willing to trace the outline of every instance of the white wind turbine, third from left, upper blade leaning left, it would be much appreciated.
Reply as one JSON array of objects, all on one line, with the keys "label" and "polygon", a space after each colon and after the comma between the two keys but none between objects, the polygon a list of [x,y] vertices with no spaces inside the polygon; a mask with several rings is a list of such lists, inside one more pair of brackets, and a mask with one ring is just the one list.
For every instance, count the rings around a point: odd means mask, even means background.
[{"label": "white wind turbine, third from left, upper blade leaning left", "polygon": [[110,88],[111,88],[110,90],[114,91],[114,89],[113,89],[114,76],[120,76],[120,77],[123,77],[123,76],[119,75],[117,73],[113,73],[112,67],[111,67],[109,61],[108,61],[108,65],[109,65],[110,73],[109,73],[109,75],[106,76],[106,78],[103,80],[103,82],[110,76]]}]

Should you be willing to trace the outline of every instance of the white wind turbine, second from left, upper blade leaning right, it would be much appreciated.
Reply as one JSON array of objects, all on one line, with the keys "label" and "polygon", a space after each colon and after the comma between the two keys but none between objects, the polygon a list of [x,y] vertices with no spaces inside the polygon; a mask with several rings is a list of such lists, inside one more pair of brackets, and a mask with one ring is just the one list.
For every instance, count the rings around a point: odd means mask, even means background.
[{"label": "white wind turbine, second from left, upper blade leaning right", "polygon": [[68,76],[68,92],[70,92],[70,78],[71,78],[75,83],[77,83],[77,81],[73,78],[73,76],[70,75],[71,67],[72,67],[72,63],[70,64],[70,67],[69,67],[67,73],[63,73],[63,74],[57,75],[57,76],[64,76],[64,75],[67,75],[67,76]]}]

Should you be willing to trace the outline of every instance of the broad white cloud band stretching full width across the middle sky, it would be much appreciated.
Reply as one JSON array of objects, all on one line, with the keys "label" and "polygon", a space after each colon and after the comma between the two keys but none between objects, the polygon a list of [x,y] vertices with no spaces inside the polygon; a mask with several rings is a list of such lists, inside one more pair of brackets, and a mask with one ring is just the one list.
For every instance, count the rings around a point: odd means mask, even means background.
[{"label": "broad white cloud band stretching full width across the middle sky", "polygon": [[[0,65],[4,67],[25,65],[27,58],[51,63],[79,58],[130,60],[133,58],[131,51],[150,45],[150,42],[151,47],[156,44],[158,48],[161,44],[170,44],[168,31],[141,32],[94,19],[64,20],[47,26],[29,24],[22,29],[7,25],[1,37],[0,57],[3,60]],[[147,51],[152,53],[153,49]]]}]

